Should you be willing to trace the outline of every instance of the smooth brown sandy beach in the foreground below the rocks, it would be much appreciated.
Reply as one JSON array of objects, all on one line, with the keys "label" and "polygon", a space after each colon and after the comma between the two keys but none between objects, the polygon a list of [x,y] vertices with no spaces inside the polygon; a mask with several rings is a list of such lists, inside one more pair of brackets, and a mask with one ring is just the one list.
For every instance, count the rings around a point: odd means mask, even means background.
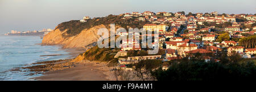
[{"label": "smooth brown sandy beach in the foreground below the rocks", "polygon": [[106,63],[81,62],[75,67],[43,73],[36,77],[38,81],[106,81],[115,80]]}]

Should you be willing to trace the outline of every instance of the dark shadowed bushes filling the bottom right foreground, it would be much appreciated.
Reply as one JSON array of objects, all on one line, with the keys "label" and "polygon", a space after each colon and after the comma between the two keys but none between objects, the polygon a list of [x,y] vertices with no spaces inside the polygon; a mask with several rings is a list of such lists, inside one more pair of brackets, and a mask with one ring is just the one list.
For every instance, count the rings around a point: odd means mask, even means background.
[{"label": "dark shadowed bushes filling the bottom right foreground", "polygon": [[254,62],[221,64],[184,59],[172,62],[167,71],[159,68],[152,75],[158,81],[253,81],[255,71]]}]

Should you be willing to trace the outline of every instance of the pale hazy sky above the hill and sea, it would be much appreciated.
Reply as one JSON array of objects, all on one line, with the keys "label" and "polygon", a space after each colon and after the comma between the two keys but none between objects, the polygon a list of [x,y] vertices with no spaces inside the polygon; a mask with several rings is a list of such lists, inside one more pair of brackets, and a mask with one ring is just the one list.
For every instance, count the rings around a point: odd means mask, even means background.
[{"label": "pale hazy sky above the hill and sea", "polygon": [[132,11],[255,14],[255,0],[0,0],[0,34],[54,29],[57,24]]}]

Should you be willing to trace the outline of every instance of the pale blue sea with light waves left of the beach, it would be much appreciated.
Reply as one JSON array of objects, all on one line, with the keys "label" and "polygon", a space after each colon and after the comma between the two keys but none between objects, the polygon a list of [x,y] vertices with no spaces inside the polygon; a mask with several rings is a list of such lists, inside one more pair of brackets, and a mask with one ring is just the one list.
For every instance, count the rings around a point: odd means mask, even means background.
[{"label": "pale blue sea with light waves left of the beach", "polygon": [[34,80],[34,77],[42,76],[42,73],[29,75],[31,72],[28,71],[9,70],[36,62],[71,58],[69,52],[61,49],[61,46],[43,46],[41,42],[40,36],[0,36],[0,80]]}]

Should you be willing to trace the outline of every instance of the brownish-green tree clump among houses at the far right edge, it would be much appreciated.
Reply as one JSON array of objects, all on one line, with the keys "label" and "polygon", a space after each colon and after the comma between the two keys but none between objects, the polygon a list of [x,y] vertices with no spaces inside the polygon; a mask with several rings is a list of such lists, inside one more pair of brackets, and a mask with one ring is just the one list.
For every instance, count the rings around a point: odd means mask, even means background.
[{"label": "brownish-green tree clump among houses at the far right edge", "polygon": [[245,37],[240,39],[240,45],[245,48],[255,48],[256,45],[256,35]]}]

